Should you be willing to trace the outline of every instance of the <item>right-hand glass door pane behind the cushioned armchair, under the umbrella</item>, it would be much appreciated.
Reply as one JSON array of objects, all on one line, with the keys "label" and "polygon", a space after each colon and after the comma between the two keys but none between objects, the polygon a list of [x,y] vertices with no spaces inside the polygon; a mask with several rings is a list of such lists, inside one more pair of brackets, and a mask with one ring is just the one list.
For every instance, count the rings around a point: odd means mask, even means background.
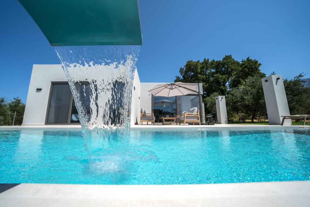
[{"label": "right-hand glass door pane behind the cushioned armchair, under the umbrella", "polygon": [[177,96],[177,115],[182,114],[183,111],[189,111],[191,108],[197,107],[200,110],[199,106],[199,96]]}]

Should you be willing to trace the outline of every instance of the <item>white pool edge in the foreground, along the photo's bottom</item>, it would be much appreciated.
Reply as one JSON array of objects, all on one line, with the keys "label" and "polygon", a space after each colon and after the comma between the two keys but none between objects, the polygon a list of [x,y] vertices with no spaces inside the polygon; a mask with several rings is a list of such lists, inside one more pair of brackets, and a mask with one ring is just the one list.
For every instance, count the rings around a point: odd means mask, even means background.
[{"label": "white pool edge in the foreground, along the photo's bottom", "polygon": [[1,206],[309,206],[310,182],[196,185],[20,184]]}]

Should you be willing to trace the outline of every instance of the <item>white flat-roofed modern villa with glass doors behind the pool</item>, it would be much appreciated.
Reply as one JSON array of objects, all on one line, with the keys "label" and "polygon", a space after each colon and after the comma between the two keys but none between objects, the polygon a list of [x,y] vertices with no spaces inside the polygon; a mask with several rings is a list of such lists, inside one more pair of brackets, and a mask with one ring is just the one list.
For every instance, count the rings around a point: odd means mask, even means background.
[{"label": "white flat-roofed modern villa with glass doors behind the pool", "polygon": [[[131,101],[131,124],[139,121],[142,107],[147,113],[154,113],[155,122],[160,122],[160,118],[163,116],[180,115],[183,111],[197,107],[201,113],[201,121],[205,122],[204,106],[198,96],[198,91],[203,94],[201,83],[197,84],[199,88],[197,87],[195,94],[154,97],[148,91],[159,84],[165,83],[140,83],[138,72],[135,70]],[[156,101],[161,99],[174,101],[174,104],[157,104]],[[33,65],[23,125],[79,123],[78,111],[61,65]]]}]

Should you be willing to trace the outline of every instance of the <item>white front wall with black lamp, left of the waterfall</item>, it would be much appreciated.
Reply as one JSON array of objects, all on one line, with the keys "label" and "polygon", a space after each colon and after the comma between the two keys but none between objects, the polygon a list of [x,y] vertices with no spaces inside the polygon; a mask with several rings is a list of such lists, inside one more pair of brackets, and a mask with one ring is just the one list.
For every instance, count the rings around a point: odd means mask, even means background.
[{"label": "white front wall with black lamp, left of the waterfall", "polygon": [[[44,125],[51,82],[67,81],[61,65],[33,65],[23,125]],[[36,92],[42,88],[41,92]]]}]

